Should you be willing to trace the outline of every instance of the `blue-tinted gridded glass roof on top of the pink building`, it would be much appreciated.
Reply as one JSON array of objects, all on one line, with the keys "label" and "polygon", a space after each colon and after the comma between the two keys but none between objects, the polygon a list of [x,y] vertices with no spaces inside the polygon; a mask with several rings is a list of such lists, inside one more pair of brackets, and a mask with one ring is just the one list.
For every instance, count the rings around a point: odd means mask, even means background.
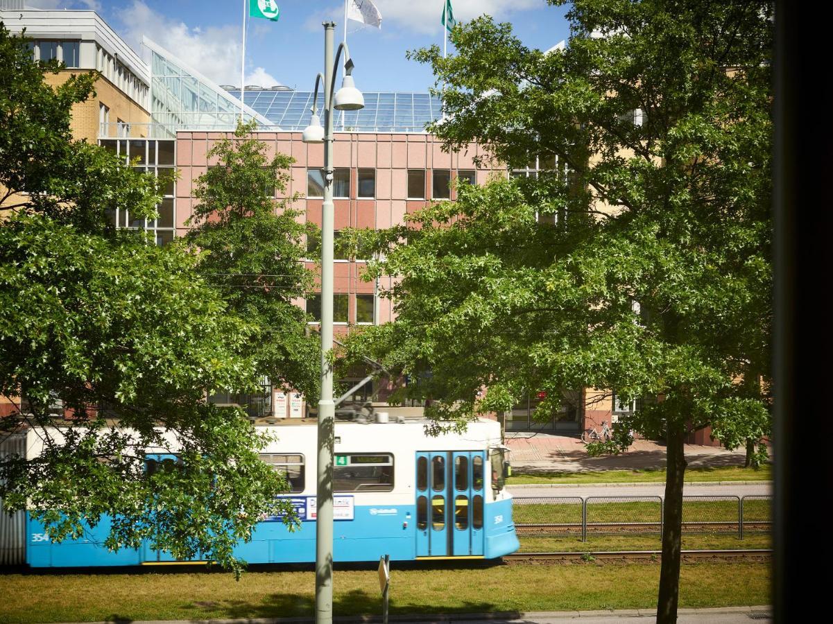
[{"label": "blue-tinted gridded glass roof on top of the pink building", "polygon": [[[240,89],[227,89],[239,101]],[[309,91],[244,92],[245,102],[282,130],[303,130],[310,122],[313,93]],[[428,92],[363,92],[365,107],[358,111],[337,112],[333,126],[352,132],[424,132],[426,123],[441,118],[440,98]],[[318,113],[322,114],[322,94]],[[322,123],[323,123],[322,119]]]}]

